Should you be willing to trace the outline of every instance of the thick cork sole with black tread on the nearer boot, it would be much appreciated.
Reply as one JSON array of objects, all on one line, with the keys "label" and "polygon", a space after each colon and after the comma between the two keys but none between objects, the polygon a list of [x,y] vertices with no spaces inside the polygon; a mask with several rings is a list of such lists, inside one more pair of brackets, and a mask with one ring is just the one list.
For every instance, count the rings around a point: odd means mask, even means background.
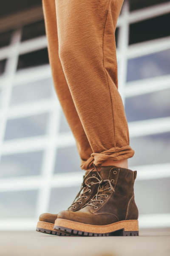
[{"label": "thick cork sole with black tread on the nearer boot", "polygon": [[118,221],[96,226],[66,219],[57,219],[54,230],[63,230],[73,236],[139,236],[138,220]]}]

